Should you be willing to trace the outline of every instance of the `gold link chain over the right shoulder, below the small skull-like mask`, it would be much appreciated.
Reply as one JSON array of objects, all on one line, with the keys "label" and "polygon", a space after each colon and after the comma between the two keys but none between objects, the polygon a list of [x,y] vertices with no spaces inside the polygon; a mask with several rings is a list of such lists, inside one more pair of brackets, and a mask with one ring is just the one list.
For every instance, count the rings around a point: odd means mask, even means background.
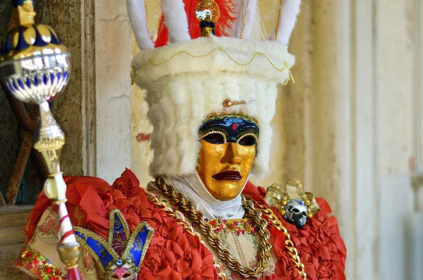
[{"label": "gold link chain over the right shoulder, below the small skull-like mask", "polygon": [[271,226],[274,226],[276,229],[283,232],[283,235],[285,236],[285,245],[286,245],[286,250],[288,250],[288,255],[290,255],[290,258],[295,264],[295,267],[297,268],[297,271],[300,274],[300,276],[302,276],[304,280],[307,280],[307,274],[305,273],[304,264],[302,264],[300,260],[300,256],[298,255],[297,248],[295,248],[293,241],[291,241],[290,234],[288,233],[288,229],[286,229],[286,227],[283,226],[282,222],[278,219],[276,214],[274,214],[272,209],[269,209],[265,207],[264,205],[260,205],[259,203],[256,203],[256,205],[257,207],[262,209],[262,212],[264,213],[264,215],[267,217],[267,219],[269,219]]}]

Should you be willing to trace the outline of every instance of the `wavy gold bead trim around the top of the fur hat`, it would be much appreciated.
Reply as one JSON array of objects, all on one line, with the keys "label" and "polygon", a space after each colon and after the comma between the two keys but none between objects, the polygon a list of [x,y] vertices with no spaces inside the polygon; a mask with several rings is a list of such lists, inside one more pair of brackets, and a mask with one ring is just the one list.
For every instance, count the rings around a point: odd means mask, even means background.
[{"label": "wavy gold bead trim around the top of the fur hat", "polygon": [[294,77],[293,77],[293,73],[291,73],[290,68],[288,66],[288,64],[286,62],[283,63],[283,67],[279,68],[278,66],[276,66],[273,61],[271,61],[271,59],[269,58],[269,56],[267,56],[266,54],[262,53],[262,52],[256,52],[255,54],[252,55],[250,61],[248,62],[240,62],[235,60],[231,54],[228,53],[228,51],[226,51],[226,49],[223,49],[221,47],[216,47],[214,49],[212,49],[211,51],[209,51],[207,54],[191,54],[189,51],[185,51],[185,50],[180,50],[177,51],[175,54],[173,54],[172,56],[170,56],[168,59],[165,59],[164,61],[161,61],[159,63],[154,62],[152,59],[149,59],[146,63],[144,63],[143,66],[141,66],[141,68],[139,68],[138,70],[136,70],[135,68],[133,68],[130,71],[130,84],[134,85],[135,81],[137,80],[137,78],[140,77],[142,71],[144,71],[144,69],[147,67],[147,65],[150,63],[152,66],[162,66],[170,61],[172,61],[176,56],[180,56],[181,54],[186,54],[190,57],[192,57],[193,59],[202,59],[206,56],[209,56],[211,54],[214,54],[214,52],[216,51],[221,51],[223,52],[223,54],[226,54],[226,56],[228,56],[228,59],[230,59],[231,61],[233,61],[233,63],[237,64],[238,66],[249,66],[252,61],[255,60],[255,58],[257,56],[263,56],[268,62],[269,64],[278,72],[283,72],[285,70],[288,70],[288,78],[286,79],[285,83],[283,83],[283,85],[288,85],[288,82],[290,80],[293,81],[293,83],[295,83]]}]

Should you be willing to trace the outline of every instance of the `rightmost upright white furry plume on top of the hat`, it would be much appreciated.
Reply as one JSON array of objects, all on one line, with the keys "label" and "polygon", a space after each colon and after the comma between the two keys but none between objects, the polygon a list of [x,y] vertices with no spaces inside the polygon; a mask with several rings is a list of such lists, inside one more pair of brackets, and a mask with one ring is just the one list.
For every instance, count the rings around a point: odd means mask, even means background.
[{"label": "rightmost upright white furry plume on top of the hat", "polygon": [[300,13],[301,0],[283,0],[281,16],[278,24],[278,37],[276,42],[288,44],[293,32],[298,13]]}]

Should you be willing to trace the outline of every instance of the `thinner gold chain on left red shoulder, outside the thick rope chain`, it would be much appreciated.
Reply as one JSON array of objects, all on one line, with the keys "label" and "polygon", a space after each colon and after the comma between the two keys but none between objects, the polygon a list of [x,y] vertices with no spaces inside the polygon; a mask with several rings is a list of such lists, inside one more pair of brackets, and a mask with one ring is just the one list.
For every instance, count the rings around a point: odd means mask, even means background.
[{"label": "thinner gold chain on left red shoulder, outside the thick rope chain", "polygon": [[[175,219],[176,224],[183,226],[183,229],[186,232],[190,233],[192,236],[197,236],[200,239],[200,243],[204,245],[204,241],[202,241],[200,233],[198,233],[197,231],[195,231],[195,229],[192,228],[191,224],[185,220],[185,216],[181,212],[179,212],[178,210],[173,210],[171,207],[168,207],[164,202],[160,202],[157,196],[154,195],[154,193],[149,193],[149,191],[147,190],[145,190],[145,193],[147,194],[149,202],[152,202],[156,207],[162,209],[168,217]],[[225,272],[221,271],[221,267],[218,263],[216,263],[214,257],[213,264],[216,268],[219,279],[227,280],[228,278],[226,277]]]}]

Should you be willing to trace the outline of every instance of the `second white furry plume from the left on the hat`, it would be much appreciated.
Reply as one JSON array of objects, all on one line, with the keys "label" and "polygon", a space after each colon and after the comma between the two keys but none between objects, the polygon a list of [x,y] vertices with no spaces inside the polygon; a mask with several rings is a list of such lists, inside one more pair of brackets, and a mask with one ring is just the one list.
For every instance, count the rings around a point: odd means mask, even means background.
[{"label": "second white furry plume from the left on the hat", "polygon": [[188,32],[188,18],[183,0],[163,0],[161,4],[165,24],[169,31],[169,42],[187,42],[191,39]]}]

